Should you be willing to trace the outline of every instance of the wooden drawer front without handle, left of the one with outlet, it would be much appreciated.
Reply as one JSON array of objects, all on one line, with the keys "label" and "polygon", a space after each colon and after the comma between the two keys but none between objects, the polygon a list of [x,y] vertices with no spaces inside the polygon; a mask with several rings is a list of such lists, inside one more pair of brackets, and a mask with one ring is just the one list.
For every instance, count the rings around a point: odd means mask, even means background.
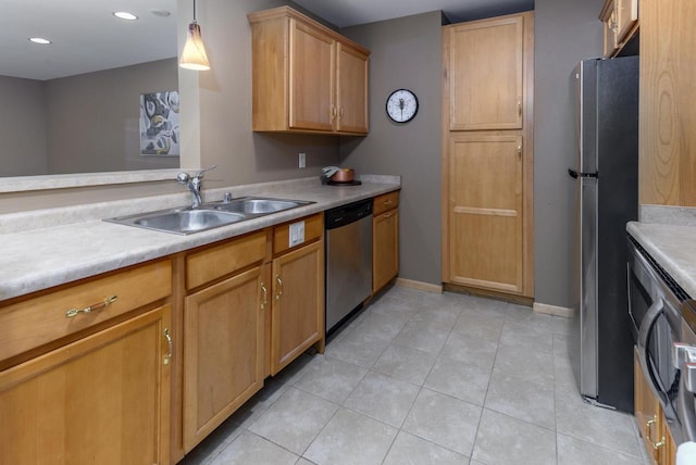
[{"label": "wooden drawer front without handle, left of the one with outlet", "polygon": [[210,282],[262,262],[266,254],[266,230],[234,238],[186,257],[186,289]]}]

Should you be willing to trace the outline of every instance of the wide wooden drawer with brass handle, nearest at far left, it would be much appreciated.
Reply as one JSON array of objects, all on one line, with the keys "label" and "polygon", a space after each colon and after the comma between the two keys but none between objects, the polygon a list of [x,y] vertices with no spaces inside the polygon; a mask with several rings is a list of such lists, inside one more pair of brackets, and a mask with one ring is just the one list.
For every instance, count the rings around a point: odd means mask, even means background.
[{"label": "wide wooden drawer with brass handle, nearest at far left", "polygon": [[[55,292],[0,307],[0,361],[164,299],[171,293],[172,263],[166,260],[67,285]],[[116,300],[103,306],[103,302],[112,296]],[[90,306],[90,312],[84,312]],[[83,312],[67,316],[72,309]]]}]

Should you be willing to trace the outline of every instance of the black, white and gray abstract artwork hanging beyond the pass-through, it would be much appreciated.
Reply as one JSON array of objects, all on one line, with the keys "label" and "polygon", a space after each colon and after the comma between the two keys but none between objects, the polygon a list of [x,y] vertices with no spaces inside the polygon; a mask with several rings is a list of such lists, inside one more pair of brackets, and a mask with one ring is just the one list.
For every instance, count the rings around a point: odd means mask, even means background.
[{"label": "black, white and gray abstract artwork hanging beyond the pass-through", "polygon": [[140,154],[178,156],[178,91],[140,96]]}]

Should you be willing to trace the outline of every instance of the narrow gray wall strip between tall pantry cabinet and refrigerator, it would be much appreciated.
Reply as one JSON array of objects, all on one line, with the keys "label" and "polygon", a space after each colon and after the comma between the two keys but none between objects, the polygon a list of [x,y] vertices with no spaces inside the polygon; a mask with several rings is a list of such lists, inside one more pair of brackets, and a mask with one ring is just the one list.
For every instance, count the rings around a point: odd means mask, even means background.
[{"label": "narrow gray wall strip between tall pantry cabinet and refrigerator", "polygon": [[534,79],[535,301],[572,307],[579,61],[601,55],[602,0],[536,0]]}]

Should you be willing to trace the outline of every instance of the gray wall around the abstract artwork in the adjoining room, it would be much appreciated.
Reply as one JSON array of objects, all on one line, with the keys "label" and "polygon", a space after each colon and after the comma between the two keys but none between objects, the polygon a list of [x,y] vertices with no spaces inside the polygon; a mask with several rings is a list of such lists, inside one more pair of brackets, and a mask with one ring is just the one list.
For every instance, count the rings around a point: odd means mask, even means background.
[{"label": "gray wall around the abstract artwork in the adjoining room", "polygon": [[178,167],[140,156],[140,95],[177,90],[176,59],[45,83],[49,173]]}]

